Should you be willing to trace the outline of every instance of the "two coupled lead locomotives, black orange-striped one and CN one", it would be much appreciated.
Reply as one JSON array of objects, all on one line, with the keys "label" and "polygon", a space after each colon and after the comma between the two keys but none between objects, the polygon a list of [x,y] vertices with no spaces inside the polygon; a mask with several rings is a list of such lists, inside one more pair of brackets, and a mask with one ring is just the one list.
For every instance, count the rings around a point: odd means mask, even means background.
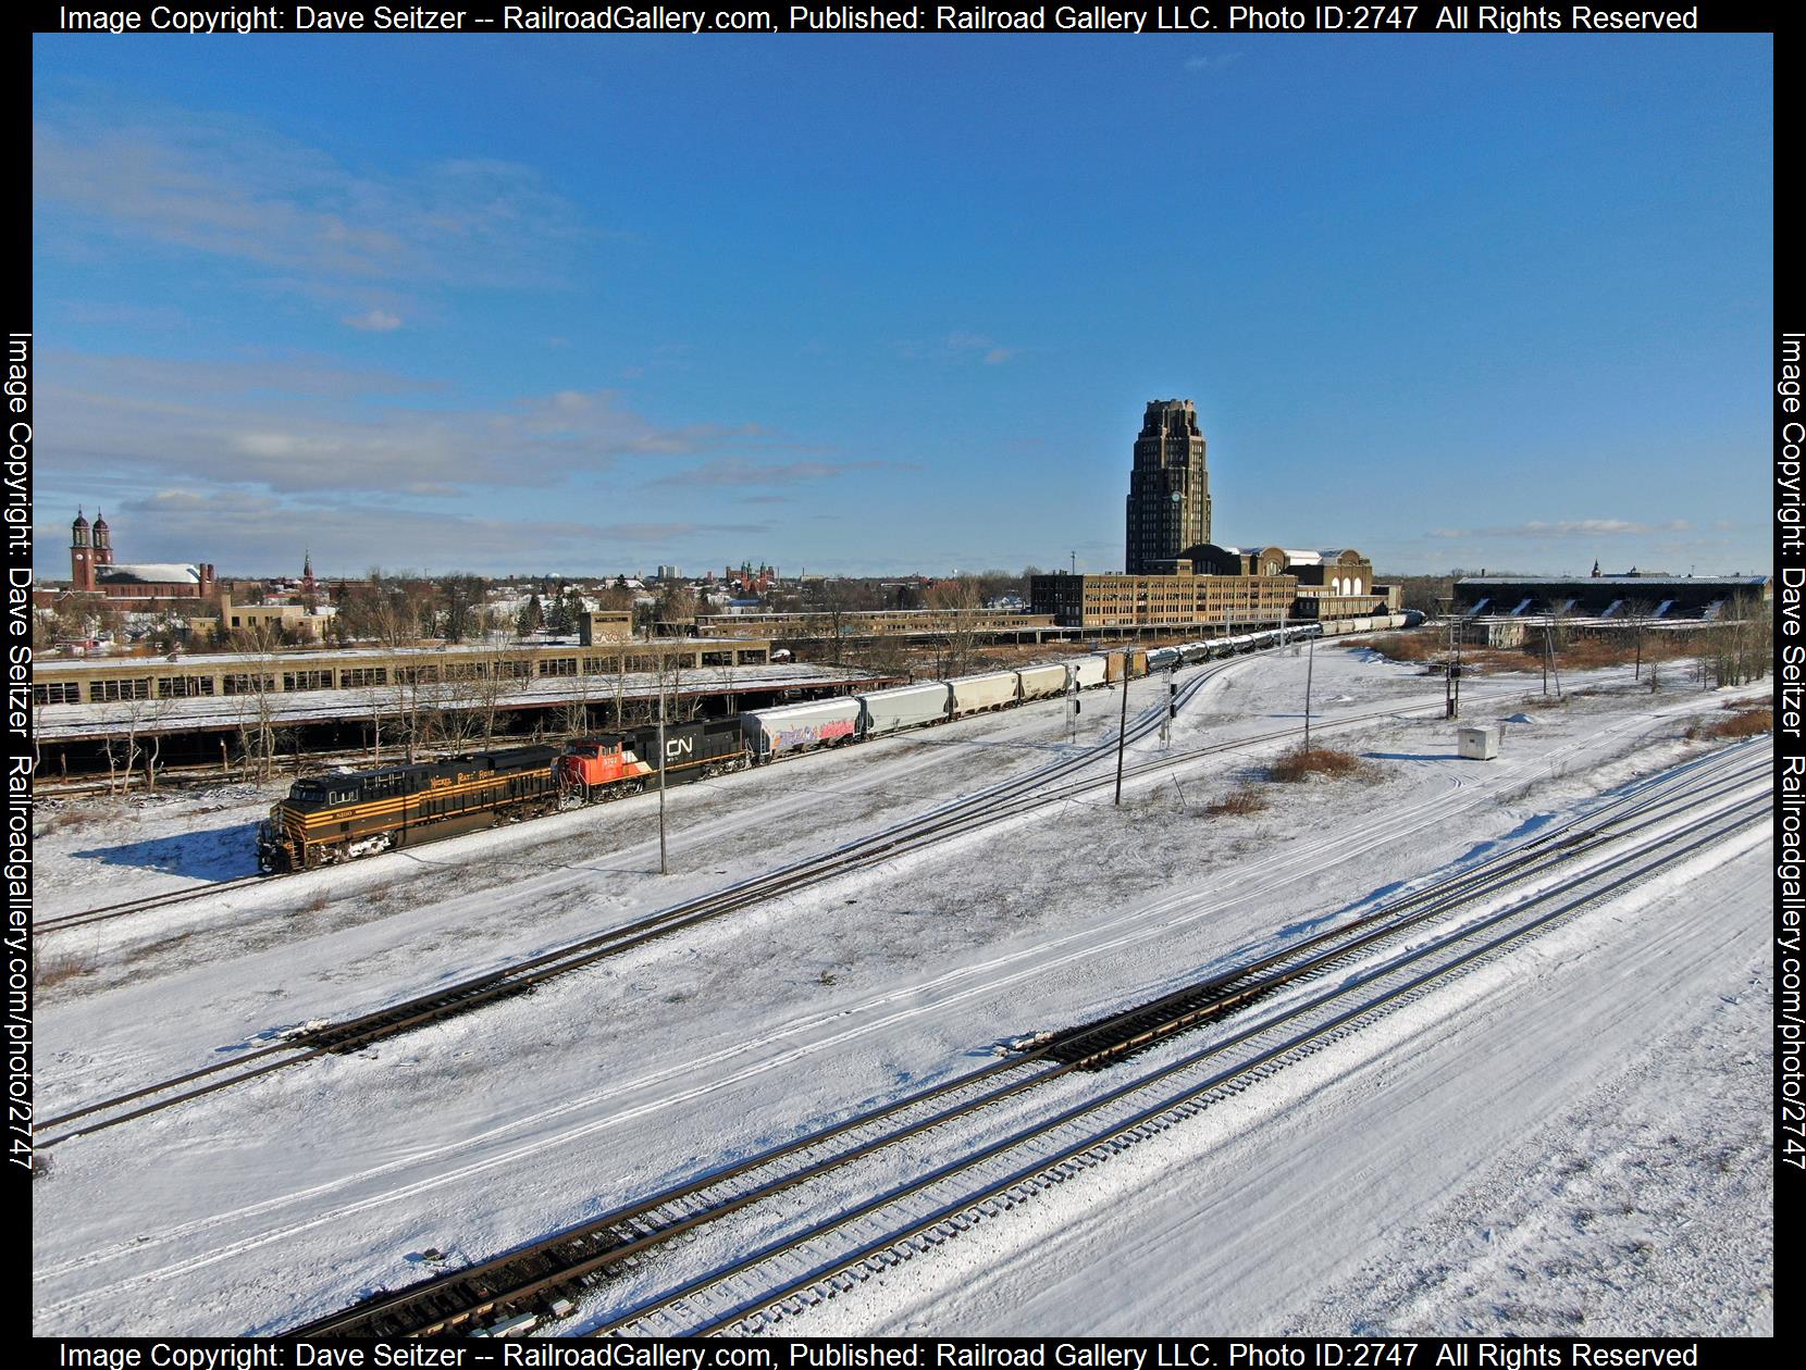
[{"label": "two coupled lead locomotives, black orange-striped one and CN one", "polygon": [[[657,783],[657,727],[638,727],[582,738],[563,751],[513,747],[296,780],[258,825],[256,863],[271,872],[311,870],[638,794]],[[737,771],[748,760],[739,722],[665,729],[666,785]]]}]

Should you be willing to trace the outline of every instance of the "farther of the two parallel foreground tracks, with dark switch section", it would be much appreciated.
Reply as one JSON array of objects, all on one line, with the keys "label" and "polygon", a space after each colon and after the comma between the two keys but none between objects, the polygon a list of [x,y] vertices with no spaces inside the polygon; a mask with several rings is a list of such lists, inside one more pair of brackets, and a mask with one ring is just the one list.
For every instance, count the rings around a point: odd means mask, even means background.
[{"label": "farther of the two parallel foreground tracks, with dark switch section", "polygon": [[[1676,767],[1662,778],[1660,785],[1645,785],[1638,792],[1620,796],[1620,800],[1584,818],[1542,834],[1522,848],[1501,854],[1430,890],[1391,901],[1351,922],[1288,944],[1268,957],[1205,977],[1102,1020],[1064,1032],[1042,1034],[1017,1054],[977,1072],[818,1128],[701,1180],[679,1184],[618,1208],[601,1218],[565,1229],[533,1245],[442,1274],[412,1289],[385,1292],[343,1312],[293,1328],[291,1334],[303,1338],[426,1336],[468,1330],[480,1319],[506,1319],[535,1309],[558,1307],[558,1301],[576,1298],[596,1280],[636,1267],[650,1251],[704,1224],[753,1208],[777,1193],[820,1180],[833,1171],[856,1166],[880,1152],[892,1152],[932,1130],[945,1130],[979,1110],[993,1110],[1062,1076],[1082,1078],[1103,1067],[1131,1061],[1179,1032],[1217,1022],[1284,986],[1309,984],[1331,969],[1351,966],[1358,957],[1371,957],[1434,919],[1477,901],[1497,899],[1512,888],[1560,875],[1566,866],[1597,848],[1631,843],[1627,854],[1615,857],[1613,872],[1625,863],[1640,861],[1649,850],[1672,850],[1674,845],[1667,838],[1667,830],[1676,819],[1723,807],[1766,773],[1766,758],[1755,756],[1752,760],[1748,749],[1714,753],[1685,767]],[[1662,830],[1662,834],[1645,838],[1642,845],[1634,841],[1652,830]],[[1692,847],[1685,850],[1690,852]],[[1541,906],[1586,881],[1598,879],[1597,870],[1584,872],[1539,890],[1517,908]],[[1145,1088],[1145,1081],[1125,1088]],[[1116,1094],[1122,1090],[1112,1092],[1112,1097]],[[945,1143],[936,1143],[936,1153],[945,1152]],[[991,1152],[984,1155],[988,1157]],[[970,1168],[970,1164],[975,1162],[963,1162],[955,1170]],[[813,1208],[822,1208],[822,1204]],[[769,1254],[766,1251],[753,1260],[766,1260]],[[735,1271],[740,1269],[746,1269],[744,1264],[735,1265]],[[731,1274],[712,1274],[703,1283],[686,1282],[663,1294],[656,1307],[638,1307],[630,1316],[609,1323],[603,1330],[623,1330],[654,1312],[677,1307],[717,1278],[731,1278]],[[659,1327],[657,1330],[701,1328]]]}]

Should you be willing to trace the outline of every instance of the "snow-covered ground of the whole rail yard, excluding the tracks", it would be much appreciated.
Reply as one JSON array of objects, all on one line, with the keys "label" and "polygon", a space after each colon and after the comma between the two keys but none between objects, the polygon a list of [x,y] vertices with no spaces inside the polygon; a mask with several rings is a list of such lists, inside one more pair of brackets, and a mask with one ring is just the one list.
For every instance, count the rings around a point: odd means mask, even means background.
[{"label": "snow-covered ground of the whole rail yard, excluding the tracks", "polygon": [[[1181,715],[1170,751],[1297,726],[1304,668],[1302,655],[1230,664]],[[1367,758],[1358,778],[1273,785],[1262,814],[1206,816],[1277,744],[1174,764],[1131,782],[1120,810],[1098,791],[372,1051],[74,1139],[34,1182],[34,1327],[278,1330],[421,1278],[426,1247],[479,1258],[916,1081],[963,1074],[1001,1038],[1145,998],[1696,754],[1701,744],[1681,733],[1725,695],[1649,695],[1627,677],[1569,680],[1598,693],[1564,708],[1528,708],[1526,693],[1539,690],[1530,677],[1466,682],[1463,722],[1526,720],[1506,724],[1497,762],[1474,764],[1454,758],[1447,720],[1396,713],[1439,700],[1439,680],[1324,648],[1315,727]],[[1161,680],[1138,682],[1131,709],[1161,695]],[[1114,729],[1116,699],[1085,697],[1078,745]],[[1335,729],[1374,711],[1382,717]],[[674,791],[666,879],[656,874],[656,800],[643,796],[56,933],[40,946],[65,966],[40,1000],[40,1114],[619,926],[1071,749],[1062,706],[1037,704]],[[1132,747],[1159,754],[1152,738]],[[40,910],[246,874],[249,827],[269,798],[166,796],[61,825],[47,807],[40,818],[56,830],[38,843]],[[1118,1202],[1143,1186],[1154,1215],[1143,1229],[1170,1220],[1163,1264],[1197,1276],[1168,1280],[1165,1296],[1154,1280],[1145,1298],[1084,1303],[1067,1291],[1051,1301],[1058,1282],[1029,1260],[1049,1242],[1069,1251],[1060,1269],[1075,1282],[1085,1260],[1132,1265],[1116,1247],[1134,1227],[1100,1222],[1062,1195],[1040,1215],[1024,1209],[1028,1236],[1002,1224],[966,1254],[954,1244],[943,1258],[910,1262],[869,1301],[838,1301],[836,1328],[1575,1330],[1560,1321],[1573,1310],[1589,1330],[1763,1327],[1766,1238],[1759,1251],[1737,1245],[1716,1215],[1750,1209],[1754,1222],[1766,1211],[1764,1193],[1736,1184],[1748,1180],[1737,1162],[1761,1146],[1764,1114],[1732,1108],[1727,1096],[1687,1132],[1687,1105],[1663,1094],[1694,1078],[1730,1094],[1752,1074],[1766,1085],[1766,1038],[1750,1029],[1763,1004],[1746,973],[1764,955],[1768,895],[1752,870],[1757,856],[1734,856],[1685,899],[1624,913],[1625,926],[1638,924],[1624,944],[1598,926],[1618,928],[1616,919],[1577,924],[1593,940],[1575,949],[1564,1013],[1530,1022],[1508,986],[1490,995],[1468,986],[1416,1029],[1436,1051],[1409,1034],[1392,1049],[1364,1043],[1371,1060],[1297,1099],[1261,1103],[1293,1110],[1279,1126],[1300,1173],[1315,1175],[1322,1155],[1318,1209],[1324,1195],[1360,1195],[1340,1213],[1331,1206],[1311,1260],[1282,1260],[1279,1240],[1289,1233],[1300,1245],[1284,1206],[1297,1199],[1308,1211],[1308,1197],[1273,1197],[1270,1222],[1250,1224],[1273,1238],[1262,1264],[1246,1244],[1224,1244],[1223,1209],[1212,1208],[1230,1189],[1246,1200],[1248,1186],[1190,1182],[1201,1166],[1232,1175],[1235,1155],[1271,1161],[1270,1137],[1264,1155],[1261,1141],[1271,1123],[1261,1121],[1228,1141],[1206,1130],[1170,1164],[1147,1170],[1136,1159],[1132,1179],[1111,1180]],[[1698,917],[1669,928],[1665,915],[1681,906]],[[1624,962],[1625,946],[1649,957],[1647,977],[1622,973],[1643,964]],[[1611,1031],[1591,1022],[1602,996],[1615,1005]],[[1575,1032],[1577,1022],[1587,1031]],[[1671,1027],[1674,1049],[1660,1051]],[[1714,1076],[1714,1041],[1748,1054],[1748,1069]],[[1526,1063],[1546,1058],[1559,1069],[1526,1083]],[[1374,1088],[1394,1079],[1396,1088]],[[1602,1090],[1627,1094],[1602,1112]],[[1476,1105],[1477,1094],[1497,1103]],[[1364,1193],[1349,1177],[1394,1171],[1373,1143],[1382,1106],[1427,1110],[1439,1139],[1412,1155],[1409,1193],[1391,1180]],[[1461,1119],[1454,1137],[1434,1121],[1450,1115]],[[1622,1119],[1638,1117],[1647,1128],[1625,1130]],[[1651,1180],[1633,1164],[1649,1128],[1681,1137],[1687,1157],[1708,1153],[1694,1135],[1705,1128],[1728,1170],[1714,1180],[1694,1164],[1669,1166]],[[1591,1170],[1569,1173],[1564,1157]],[[1528,1189],[1515,1182],[1526,1173]],[[1634,1200],[1631,1213],[1609,1209],[1629,1202],[1620,1193]],[[1562,1204],[1587,1206],[1589,1226],[1564,1229]],[[1477,1229],[1494,1233],[1485,1249],[1472,1247]],[[1613,1254],[1636,1242],[1654,1251],[1642,1265]],[[1187,1258],[1176,1262],[1178,1251]],[[1708,1256],[1739,1296],[1698,1289],[1692,1269]],[[977,1262],[984,1278],[959,1262]],[[1273,1278],[1280,1267],[1291,1274]],[[1513,1291],[1513,1280],[1541,1289],[1553,1267],[1573,1271],[1568,1283],[1555,1280],[1559,1296]],[[1698,1300],[1663,1305],[1671,1278],[1690,1282]],[[1600,1312],[1607,1300],[1587,1294],[1586,1280],[1638,1285],[1613,1314],[1620,1323]],[[1694,1316],[1719,1321],[1696,1327]],[[818,1328],[809,1319],[796,1330]]]}]

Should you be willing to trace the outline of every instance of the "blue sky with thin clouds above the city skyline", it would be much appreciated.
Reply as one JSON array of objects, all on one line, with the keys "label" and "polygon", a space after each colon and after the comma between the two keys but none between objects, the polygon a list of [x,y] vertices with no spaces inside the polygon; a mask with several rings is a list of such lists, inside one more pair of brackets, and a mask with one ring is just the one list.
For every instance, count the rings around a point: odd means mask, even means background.
[{"label": "blue sky with thin clouds above the city skyline", "polygon": [[40,36],[38,567],[1766,570],[1772,54]]}]

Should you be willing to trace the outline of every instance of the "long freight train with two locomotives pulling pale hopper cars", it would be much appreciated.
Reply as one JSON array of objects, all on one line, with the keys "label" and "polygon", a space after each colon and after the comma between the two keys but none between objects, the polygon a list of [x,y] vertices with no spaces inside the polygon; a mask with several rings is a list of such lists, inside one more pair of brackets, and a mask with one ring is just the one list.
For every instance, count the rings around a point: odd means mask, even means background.
[{"label": "long freight train with two locomotives pulling pale hopper cars", "polygon": [[[1364,621],[1364,626],[1369,626]],[[1396,626],[1373,619],[1371,626]],[[1354,632],[1344,628],[1342,632]],[[778,756],[926,727],[1037,699],[1058,699],[1131,675],[1317,637],[1315,623],[1214,637],[1152,652],[1109,652],[1047,666],[919,680],[843,699],[753,709],[719,722],[666,724],[665,783],[740,771]],[[256,828],[258,866],[311,870],[397,847],[638,794],[657,783],[657,727],[511,747],[417,765],[296,780]]]}]

